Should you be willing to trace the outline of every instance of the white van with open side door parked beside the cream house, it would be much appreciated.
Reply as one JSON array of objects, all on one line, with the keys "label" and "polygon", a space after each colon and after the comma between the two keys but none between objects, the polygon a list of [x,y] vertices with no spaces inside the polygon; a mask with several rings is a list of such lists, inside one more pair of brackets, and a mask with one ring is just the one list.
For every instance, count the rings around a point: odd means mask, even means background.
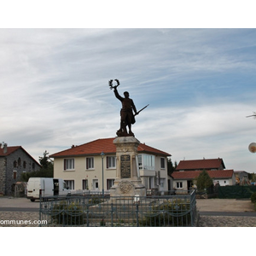
[{"label": "white van with open side door parked beside the cream house", "polygon": [[70,195],[63,179],[55,177],[30,177],[26,191],[26,198],[31,201],[40,199],[40,196]]}]

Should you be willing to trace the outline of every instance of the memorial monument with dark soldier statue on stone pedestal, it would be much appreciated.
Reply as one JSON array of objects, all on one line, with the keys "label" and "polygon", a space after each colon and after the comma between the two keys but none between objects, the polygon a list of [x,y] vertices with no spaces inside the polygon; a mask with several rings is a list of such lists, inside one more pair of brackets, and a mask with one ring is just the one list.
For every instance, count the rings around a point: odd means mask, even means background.
[{"label": "memorial monument with dark soldier statue on stone pedestal", "polygon": [[[116,132],[117,137],[113,140],[116,146],[116,178],[110,189],[110,196],[146,196],[146,189],[140,178],[140,171],[137,158],[137,147],[140,142],[131,131],[131,125],[135,124],[135,116],[144,108],[137,112],[134,102],[129,97],[129,92],[125,91],[124,96],[119,96],[117,87],[119,80],[110,80],[110,89],[122,103],[120,110],[120,128]],[[128,131],[127,131],[128,126]]]}]

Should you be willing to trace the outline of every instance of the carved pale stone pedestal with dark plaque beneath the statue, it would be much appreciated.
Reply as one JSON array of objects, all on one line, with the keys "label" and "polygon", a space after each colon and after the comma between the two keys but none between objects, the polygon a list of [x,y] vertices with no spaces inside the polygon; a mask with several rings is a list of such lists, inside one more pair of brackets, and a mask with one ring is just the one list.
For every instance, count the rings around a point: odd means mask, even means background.
[{"label": "carved pale stone pedestal with dark plaque beneath the statue", "polygon": [[110,196],[146,196],[137,162],[139,141],[135,137],[116,137],[117,172]]}]

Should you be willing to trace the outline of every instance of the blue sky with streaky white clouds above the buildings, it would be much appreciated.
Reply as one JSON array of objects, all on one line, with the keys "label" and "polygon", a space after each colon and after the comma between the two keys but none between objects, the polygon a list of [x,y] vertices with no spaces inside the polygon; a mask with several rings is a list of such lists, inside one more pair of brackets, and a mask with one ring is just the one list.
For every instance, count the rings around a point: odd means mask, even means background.
[{"label": "blue sky with streaky white clouds above the buildings", "polygon": [[115,137],[119,79],[141,143],[256,172],[255,29],[0,29],[0,141],[38,160]]}]

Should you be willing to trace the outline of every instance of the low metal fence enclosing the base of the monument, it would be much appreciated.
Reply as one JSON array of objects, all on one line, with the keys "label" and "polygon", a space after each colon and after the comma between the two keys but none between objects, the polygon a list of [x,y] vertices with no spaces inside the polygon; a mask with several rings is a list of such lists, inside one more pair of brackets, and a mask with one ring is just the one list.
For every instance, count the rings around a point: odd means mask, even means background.
[{"label": "low metal fence enclosing the base of the monument", "polygon": [[[169,191],[170,192],[170,191]],[[195,226],[195,190],[180,195],[43,197],[41,226],[180,227]]]}]

